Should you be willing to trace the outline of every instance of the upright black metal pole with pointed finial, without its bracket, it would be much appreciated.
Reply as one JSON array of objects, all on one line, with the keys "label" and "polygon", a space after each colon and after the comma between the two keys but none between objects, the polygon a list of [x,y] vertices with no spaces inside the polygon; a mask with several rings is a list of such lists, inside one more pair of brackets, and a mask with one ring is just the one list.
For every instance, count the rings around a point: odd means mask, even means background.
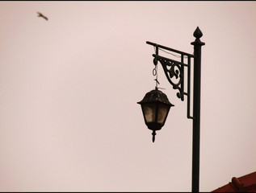
[{"label": "upright black metal pole with pointed finial, without its bracket", "polygon": [[200,93],[201,93],[201,47],[205,43],[200,38],[203,33],[194,32],[194,91],[193,91],[193,145],[192,145],[192,192],[199,192],[199,152],[200,152]]}]

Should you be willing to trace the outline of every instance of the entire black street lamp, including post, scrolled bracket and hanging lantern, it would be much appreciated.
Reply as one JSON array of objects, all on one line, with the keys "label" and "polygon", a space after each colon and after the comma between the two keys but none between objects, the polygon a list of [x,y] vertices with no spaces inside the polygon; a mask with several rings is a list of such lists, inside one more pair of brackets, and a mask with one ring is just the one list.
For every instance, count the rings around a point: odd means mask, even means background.
[{"label": "entire black street lamp, including post, scrolled bracket and hanging lantern", "polygon": [[[200,98],[201,98],[201,47],[205,45],[200,38],[203,36],[202,31],[197,27],[194,31],[195,41],[194,53],[189,54],[184,51],[178,51],[170,47],[162,46],[157,43],[147,41],[149,45],[155,48],[153,54],[153,75],[157,76],[157,62],[162,64],[166,78],[174,89],[178,89],[177,96],[181,101],[184,101],[184,96],[187,96],[187,118],[193,120],[192,131],[192,192],[199,192],[199,147],[200,147]],[[158,54],[158,50],[176,56],[179,60],[166,58]],[[171,51],[171,52],[170,52]],[[175,53],[175,54],[173,54]],[[191,60],[193,63],[193,114],[191,116]],[[185,68],[187,70],[185,70]],[[187,71],[187,89],[185,88],[185,75]],[[156,83],[158,83],[157,79]],[[142,113],[145,119],[145,124],[149,129],[153,130],[153,142],[156,135],[156,130],[160,130],[166,122],[166,117],[169,113],[170,104],[166,94],[157,89],[145,94],[141,102]]]}]

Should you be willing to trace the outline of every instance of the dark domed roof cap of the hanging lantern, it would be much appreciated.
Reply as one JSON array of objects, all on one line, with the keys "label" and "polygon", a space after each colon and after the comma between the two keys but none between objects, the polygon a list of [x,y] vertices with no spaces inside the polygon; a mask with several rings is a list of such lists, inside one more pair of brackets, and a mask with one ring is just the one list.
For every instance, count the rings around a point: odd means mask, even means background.
[{"label": "dark domed roof cap of the hanging lantern", "polygon": [[166,94],[158,90],[157,87],[154,90],[147,92],[144,98],[142,99],[142,101],[138,102],[138,104],[149,103],[149,102],[160,102],[166,105],[174,106],[170,103]]}]

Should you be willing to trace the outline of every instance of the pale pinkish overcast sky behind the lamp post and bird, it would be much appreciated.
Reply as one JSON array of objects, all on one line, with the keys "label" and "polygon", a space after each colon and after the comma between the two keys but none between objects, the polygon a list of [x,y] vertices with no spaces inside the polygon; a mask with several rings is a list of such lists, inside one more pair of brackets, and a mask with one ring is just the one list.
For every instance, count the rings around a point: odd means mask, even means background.
[{"label": "pale pinkish overcast sky behind the lamp post and bird", "polygon": [[199,190],[254,172],[255,10],[254,1],[1,1],[0,191],[191,191],[187,97],[158,65],[175,106],[154,143],[136,102],[155,86],[146,41],[193,54],[196,27]]}]

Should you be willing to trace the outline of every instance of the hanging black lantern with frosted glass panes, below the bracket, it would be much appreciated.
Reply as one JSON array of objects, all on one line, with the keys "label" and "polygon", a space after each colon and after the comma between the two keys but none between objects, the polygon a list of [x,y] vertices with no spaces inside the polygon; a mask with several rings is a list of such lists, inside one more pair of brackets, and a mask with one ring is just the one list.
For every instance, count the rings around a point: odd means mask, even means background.
[{"label": "hanging black lantern with frosted glass panes, below the bracket", "polygon": [[171,106],[165,93],[159,91],[156,87],[154,90],[147,92],[142,101],[137,102],[141,105],[145,124],[150,130],[153,130],[152,141],[155,141],[156,131],[162,129],[165,125]]}]

